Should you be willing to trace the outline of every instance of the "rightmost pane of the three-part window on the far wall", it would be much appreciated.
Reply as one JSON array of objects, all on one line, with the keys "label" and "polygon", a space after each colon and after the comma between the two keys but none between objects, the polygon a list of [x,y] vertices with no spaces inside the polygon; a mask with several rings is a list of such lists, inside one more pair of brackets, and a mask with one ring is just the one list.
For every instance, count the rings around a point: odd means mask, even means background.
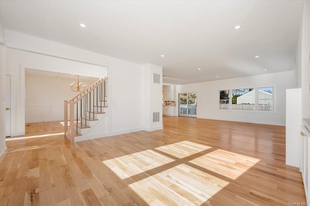
[{"label": "rightmost pane of the three-part window on the far wall", "polygon": [[273,111],[273,88],[258,88],[258,110]]}]

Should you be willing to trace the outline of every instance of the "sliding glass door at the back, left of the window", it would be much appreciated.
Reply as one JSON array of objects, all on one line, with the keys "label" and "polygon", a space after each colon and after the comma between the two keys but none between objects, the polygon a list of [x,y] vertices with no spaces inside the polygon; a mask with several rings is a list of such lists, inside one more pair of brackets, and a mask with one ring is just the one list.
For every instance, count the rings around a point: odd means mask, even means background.
[{"label": "sliding glass door at the back, left of the window", "polygon": [[179,94],[179,116],[197,116],[197,92]]}]

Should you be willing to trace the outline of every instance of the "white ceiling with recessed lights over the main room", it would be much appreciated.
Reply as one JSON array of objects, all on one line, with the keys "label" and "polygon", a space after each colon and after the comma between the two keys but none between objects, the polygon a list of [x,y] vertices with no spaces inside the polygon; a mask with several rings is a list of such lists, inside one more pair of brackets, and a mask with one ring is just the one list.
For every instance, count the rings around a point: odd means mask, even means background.
[{"label": "white ceiling with recessed lights over the main room", "polygon": [[5,29],[153,63],[170,84],[294,70],[302,11],[299,0],[0,1]]}]

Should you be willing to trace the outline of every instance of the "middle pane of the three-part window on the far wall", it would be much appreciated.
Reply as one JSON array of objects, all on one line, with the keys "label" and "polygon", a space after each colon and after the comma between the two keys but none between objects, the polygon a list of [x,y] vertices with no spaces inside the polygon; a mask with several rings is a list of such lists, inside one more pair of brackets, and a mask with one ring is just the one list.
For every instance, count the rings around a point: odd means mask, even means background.
[{"label": "middle pane of the three-part window on the far wall", "polygon": [[232,109],[255,110],[255,88],[233,89]]}]

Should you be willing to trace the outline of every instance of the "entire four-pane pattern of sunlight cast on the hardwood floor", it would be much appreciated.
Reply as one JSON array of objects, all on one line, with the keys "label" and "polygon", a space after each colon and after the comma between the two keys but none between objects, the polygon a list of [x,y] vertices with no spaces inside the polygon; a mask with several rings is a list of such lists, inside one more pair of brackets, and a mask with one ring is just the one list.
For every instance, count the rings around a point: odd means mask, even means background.
[{"label": "entire four-pane pattern of sunlight cast on the hardwood floor", "polygon": [[[145,150],[103,163],[121,179],[146,172],[145,176],[137,176],[138,180],[128,186],[147,205],[202,205],[210,203],[213,196],[229,184],[224,177],[236,179],[260,161],[217,149],[188,161],[190,165],[186,161],[180,164],[176,162],[177,165],[169,164],[209,148],[212,147],[183,141],[155,148],[175,156],[175,160],[153,150]],[[160,167],[164,164],[164,167]]]}]

